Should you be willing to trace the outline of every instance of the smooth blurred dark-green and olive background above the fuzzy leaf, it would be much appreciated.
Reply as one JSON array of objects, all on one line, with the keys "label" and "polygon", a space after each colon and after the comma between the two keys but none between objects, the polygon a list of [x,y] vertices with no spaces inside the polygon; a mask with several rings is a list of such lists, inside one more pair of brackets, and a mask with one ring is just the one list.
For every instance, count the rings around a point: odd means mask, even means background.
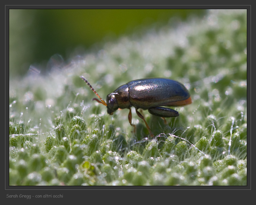
[{"label": "smooth blurred dark-green and olive background above the fuzzy leaf", "polygon": [[[204,9],[10,9],[10,78],[25,75],[30,65],[41,72],[51,56],[64,61],[87,50],[100,50],[106,41],[124,35],[143,35],[179,23]],[[171,17],[177,17],[170,22]]]}]

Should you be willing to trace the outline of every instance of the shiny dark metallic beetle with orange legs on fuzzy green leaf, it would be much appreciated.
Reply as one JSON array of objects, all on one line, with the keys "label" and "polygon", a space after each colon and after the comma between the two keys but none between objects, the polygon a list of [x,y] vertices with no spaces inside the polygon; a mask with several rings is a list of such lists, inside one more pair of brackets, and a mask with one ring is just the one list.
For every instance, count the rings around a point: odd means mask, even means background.
[{"label": "shiny dark metallic beetle with orange legs on fuzzy green leaf", "polygon": [[192,103],[190,94],[185,86],[178,81],[167,78],[145,78],[130,81],[108,94],[105,102],[87,79],[84,76],[80,77],[100,99],[93,98],[93,100],[107,106],[109,115],[113,115],[118,108],[128,108],[130,110],[128,120],[130,125],[134,126],[131,122],[131,107],[135,107],[136,114],[145,122],[151,137],[154,135],[138,109],[148,110],[150,114],[162,118],[177,117],[179,112],[162,106],[184,106]]}]

